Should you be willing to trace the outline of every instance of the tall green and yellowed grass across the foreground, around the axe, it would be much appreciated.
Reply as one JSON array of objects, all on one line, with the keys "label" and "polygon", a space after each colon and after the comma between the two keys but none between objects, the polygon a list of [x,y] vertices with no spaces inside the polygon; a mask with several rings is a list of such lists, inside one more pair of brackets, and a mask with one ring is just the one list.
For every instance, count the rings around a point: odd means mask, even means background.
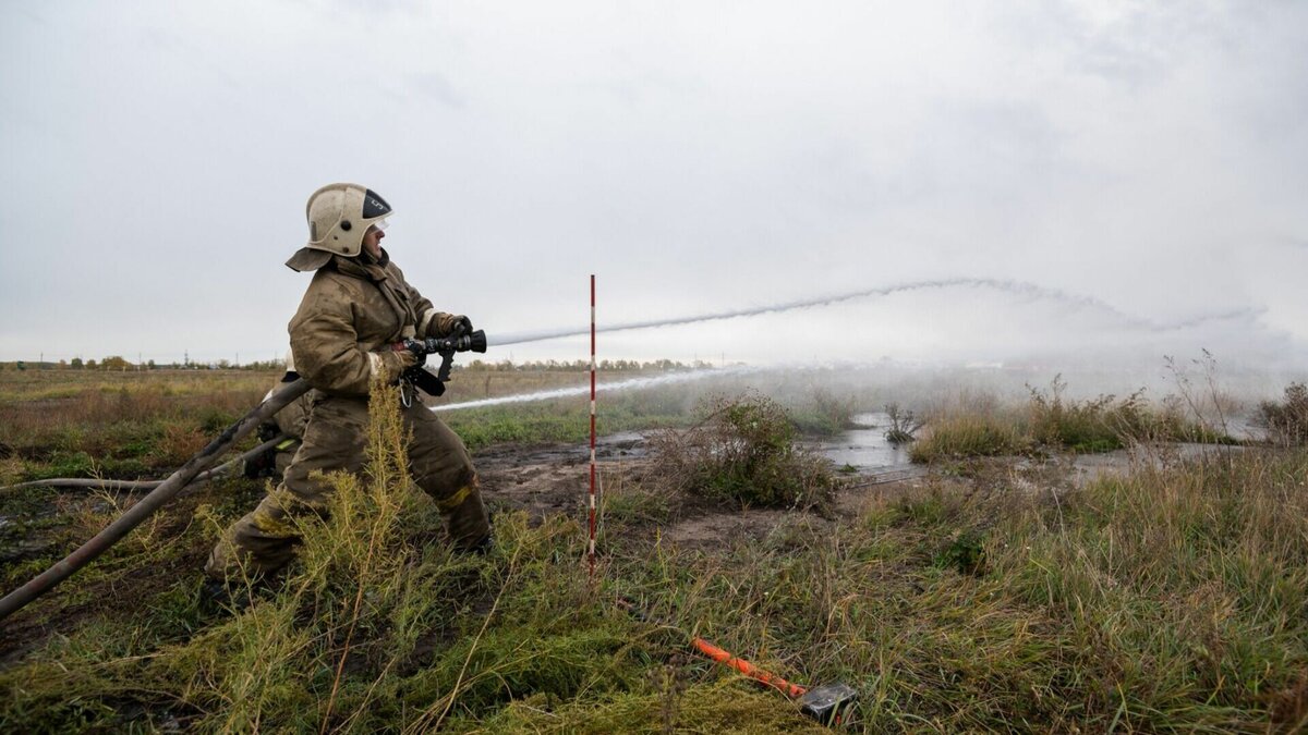
[{"label": "tall green and yellowed grass across the foreground, around the axe", "polygon": [[[852,684],[867,732],[1308,726],[1301,447],[1142,462],[1059,494],[931,480],[712,551],[662,540],[651,489],[613,480],[628,511],[608,515],[594,585],[573,518],[500,513],[488,557],[433,543],[394,420],[374,421],[369,462],[247,612],[200,615],[203,556],[177,541],[203,548],[238,506],[154,528],[41,600],[33,615],[92,606],[109,574],[132,595],[5,663],[0,730],[827,731],[689,655],[692,633]],[[194,575],[137,587],[181,562]],[[613,609],[619,594],[668,625]]]}]

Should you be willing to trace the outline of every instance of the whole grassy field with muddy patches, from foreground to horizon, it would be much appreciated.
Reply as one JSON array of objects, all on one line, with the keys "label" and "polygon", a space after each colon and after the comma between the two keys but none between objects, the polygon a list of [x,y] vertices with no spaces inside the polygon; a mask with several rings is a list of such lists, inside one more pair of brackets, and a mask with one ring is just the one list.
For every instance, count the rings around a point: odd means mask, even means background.
[{"label": "whole grassy field with muddy patches, from foreground to horizon", "polygon": [[[460,402],[585,379],[455,377]],[[164,477],[276,378],[0,371],[0,485]],[[217,534],[264,492],[234,476],[0,623],[0,730],[829,730],[692,653],[693,636],[853,687],[853,731],[1308,726],[1308,451],[1292,433],[1248,441],[1232,425],[1252,404],[1184,385],[1172,400],[940,386],[808,371],[612,394],[593,574],[585,398],[442,413],[493,511],[484,557],[439,543],[381,411],[374,472],[336,480],[330,518],[306,522],[300,561],[249,608],[200,594]],[[794,449],[895,402],[925,421],[910,479]],[[1110,471],[1079,475],[1087,456]],[[5,591],[135,497],[0,490]]]}]

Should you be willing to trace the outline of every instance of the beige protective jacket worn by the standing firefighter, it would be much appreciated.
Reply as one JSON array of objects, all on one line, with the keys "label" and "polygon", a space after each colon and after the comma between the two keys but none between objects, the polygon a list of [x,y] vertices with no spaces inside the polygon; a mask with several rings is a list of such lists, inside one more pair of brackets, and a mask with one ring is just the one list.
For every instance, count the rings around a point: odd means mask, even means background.
[{"label": "beige protective jacket worn by the standing firefighter", "polygon": [[364,396],[371,374],[386,369],[379,349],[407,337],[443,337],[455,324],[408,285],[383,250],[381,260],[336,255],[319,268],[288,331],[296,370],[309,385]]}]

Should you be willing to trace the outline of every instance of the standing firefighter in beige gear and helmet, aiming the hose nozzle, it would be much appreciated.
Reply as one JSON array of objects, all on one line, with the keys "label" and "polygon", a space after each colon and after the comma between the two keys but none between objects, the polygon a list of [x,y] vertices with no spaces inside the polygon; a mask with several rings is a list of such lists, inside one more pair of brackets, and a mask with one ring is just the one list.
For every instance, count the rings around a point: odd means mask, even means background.
[{"label": "standing firefighter in beige gear and helmet, aiming the hose nozzle", "polygon": [[[296,370],[314,388],[313,408],[281,483],[209,555],[205,573],[213,579],[232,578],[237,565],[255,578],[285,566],[300,541],[293,519],[324,513],[331,493],[310,475],[362,470],[370,381],[394,383],[419,360],[396,343],[472,332],[467,316],[437,311],[391,262],[381,245],[391,214],[385,199],[358,184],[324,186],[309,197],[309,242],[286,265],[313,273],[288,326]],[[404,403],[415,483],[436,501],[456,548],[487,549],[490,523],[467,449],[421,400]]]}]

